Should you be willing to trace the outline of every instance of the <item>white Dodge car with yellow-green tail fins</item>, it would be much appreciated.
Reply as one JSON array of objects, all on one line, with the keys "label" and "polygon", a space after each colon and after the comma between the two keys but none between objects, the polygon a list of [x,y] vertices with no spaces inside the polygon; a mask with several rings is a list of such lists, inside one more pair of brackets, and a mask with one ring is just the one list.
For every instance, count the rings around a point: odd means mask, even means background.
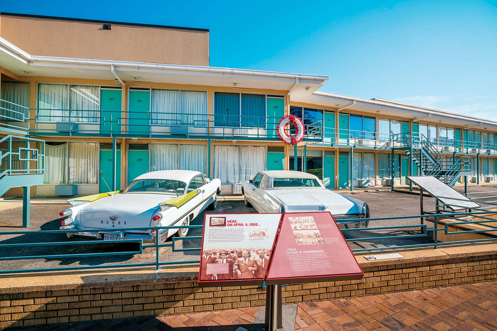
[{"label": "white Dodge car with yellow-green tail fins", "polygon": [[[143,239],[164,242],[177,232],[186,236],[185,229],[113,231],[113,228],[189,225],[202,210],[214,210],[221,194],[221,181],[208,180],[198,171],[153,171],[135,178],[123,191],[69,199],[72,207],[60,213],[69,216],[61,221],[67,236],[100,240]],[[94,230],[98,229],[98,230]],[[159,232],[159,235],[157,235]]]}]

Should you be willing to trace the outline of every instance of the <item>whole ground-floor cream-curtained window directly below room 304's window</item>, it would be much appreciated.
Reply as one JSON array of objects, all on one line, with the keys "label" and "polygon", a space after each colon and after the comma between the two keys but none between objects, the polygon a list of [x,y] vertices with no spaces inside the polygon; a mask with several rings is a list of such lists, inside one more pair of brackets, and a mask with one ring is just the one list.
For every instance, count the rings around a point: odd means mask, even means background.
[{"label": "whole ground-floor cream-curtained window directly below room 304's window", "polygon": [[43,184],[97,184],[98,143],[45,144]]}]

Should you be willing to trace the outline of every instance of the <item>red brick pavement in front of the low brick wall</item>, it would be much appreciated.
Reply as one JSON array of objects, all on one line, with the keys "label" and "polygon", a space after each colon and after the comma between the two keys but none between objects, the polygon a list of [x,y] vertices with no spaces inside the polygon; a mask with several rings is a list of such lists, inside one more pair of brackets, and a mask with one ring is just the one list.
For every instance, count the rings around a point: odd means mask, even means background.
[{"label": "red brick pavement in front of the low brick wall", "polygon": [[[259,308],[30,327],[36,331],[235,331]],[[245,331],[239,329],[239,331]],[[28,330],[15,328],[13,330]],[[300,303],[295,331],[496,331],[497,282]]]}]

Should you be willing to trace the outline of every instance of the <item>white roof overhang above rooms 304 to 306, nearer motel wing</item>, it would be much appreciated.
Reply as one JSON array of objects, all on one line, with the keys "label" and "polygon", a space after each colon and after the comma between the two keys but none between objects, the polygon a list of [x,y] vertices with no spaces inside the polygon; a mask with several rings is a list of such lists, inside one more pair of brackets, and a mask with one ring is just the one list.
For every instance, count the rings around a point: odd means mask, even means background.
[{"label": "white roof overhang above rooms 304 to 306, nearer motel wing", "polygon": [[[0,66],[22,75],[28,70],[33,76],[108,79],[115,77],[115,72],[124,81],[151,83],[173,83],[189,85],[207,85],[234,87],[243,90],[272,89],[294,91],[302,95],[310,95],[323,85],[329,76],[298,74],[289,72],[235,69],[212,66],[182,66],[159,63],[138,63],[125,61],[91,60],[33,56],[15,45],[0,38]],[[236,84],[235,84],[236,83]],[[300,91],[302,90],[302,92]]]}]

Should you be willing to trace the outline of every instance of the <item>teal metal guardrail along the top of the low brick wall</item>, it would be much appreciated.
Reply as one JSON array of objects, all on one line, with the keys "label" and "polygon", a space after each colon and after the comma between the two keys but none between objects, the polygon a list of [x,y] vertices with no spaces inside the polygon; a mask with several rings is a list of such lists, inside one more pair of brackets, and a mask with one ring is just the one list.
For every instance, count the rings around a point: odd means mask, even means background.
[{"label": "teal metal guardrail along the top of the low brick wall", "polygon": [[[495,191],[497,192],[497,191]],[[453,198],[446,198],[457,200]],[[462,200],[462,199],[461,199]],[[453,244],[473,244],[473,243],[483,243],[489,241],[497,241],[497,238],[485,238],[485,239],[476,239],[476,240],[459,240],[459,241],[450,241],[450,242],[438,242],[437,236],[439,231],[443,231],[445,235],[451,234],[461,234],[462,232],[451,232],[449,231],[450,226],[457,226],[462,224],[483,224],[490,222],[497,222],[495,219],[491,219],[486,217],[485,215],[497,214],[497,211],[489,211],[482,208],[474,208],[477,211],[470,212],[448,212],[450,210],[446,210],[445,207],[447,204],[438,204],[439,199],[436,199],[436,203],[438,208],[441,208],[440,212],[436,213],[424,213],[422,215],[412,215],[412,216],[394,216],[394,217],[376,217],[370,218],[369,224],[371,222],[382,222],[382,221],[391,221],[391,220],[410,220],[410,219],[420,219],[419,224],[399,224],[395,226],[377,226],[370,228],[346,228],[341,229],[341,231],[347,236],[349,233],[368,233],[373,234],[374,236],[363,236],[359,238],[348,238],[346,241],[348,243],[363,243],[363,242],[376,242],[381,240],[388,240],[389,245],[381,245],[377,247],[368,247],[368,248],[354,248],[352,252],[374,252],[374,251],[388,251],[388,250],[397,250],[397,249],[410,249],[410,248],[433,248],[437,249],[439,246],[445,245],[453,245]],[[492,203],[491,203],[492,204]],[[450,205],[454,206],[454,203],[450,203]],[[493,204],[497,206],[497,204]],[[442,212],[443,211],[443,212]],[[467,221],[461,219],[460,217],[467,216],[477,216],[484,220],[481,221]],[[434,220],[434,224],[438,224],[439,218],[445,219],[454,219],[457,221],[448,222],[444,227],[428,227],[428,224],[424,222],[424,218],[430,217]],[[458,218],[459,217],[459,218]],[[354,219],[348,221],[361,221],[364,219]],[[179,229],[179,228],[189,228],[196,229],[202,228],[203,225],[189,225],[189,226],[163,226],[163,227],[141,227],[141,228],[113,228],[112,231],[123,231],[123,230],[160,230],[160,229]],[[417,231],[419,230],[419,231]],[[468,230],[467,233],[488,233],[494,232],[497,230],[497,227],[494,228],[485,228],[482,230]],[[102,229],[84,229],[84,230],[43,230],[43,231],[3,231],[0,232],[0,236],[12,236],[12,235],[46,235],[46,234],[65,234],[68,232],[87,232],[87,231],[102,231]],[[394,232],[392,232],[394,231]],[[395,231],[406,232],[407,234],[397,235]],[[411,231],[411,232],[409,232]],[[380,234],[380,235],[379,235]],[[384,234],[384,235],[381,235]],[[1,238],[1,237],[0,237]],[[36,246],[63,246],[63,245],[101,245],[101,244],[126,244],[126,243],[136,243],[138,245],[137,249],[125,250],[122,252],[112,252],[112,253],[86,253],[86,254],[56,254],[56,255],[35,255],[35,256],[2,256],[0,257],[0,261],[19,261],[19,260],[33,260],[33,259],[65,259],[65,258],[82,258],[82,257],[102,257],[102,256],[129,256],[142,254],[143,249],[146,248],[155,248],[155,262],[143,262],[143,263],[127,263],[127,264],[119,264],[119,263],[109,263],[105,265],[78,265],[78,266],[61,266],[61,267],[46,267],[46,268],[25,268],[25,269],[8,269],[4,268],[0,270],[0,274],[6,273],[33,273],[40,271],[58,271],[58,270],[88,270],[88,269],[104,269],[104,268],[129,268],[129,267],[155,267],[156,270],[160,269],[161,266],[166,265],[190,265],[197,264],[199,260],[178,260],[178,261],[161,261],[160,260],[160,252],[163,248],[170,248],[171,252],[189,252],[189,251],[200,251],[200,247],[189,247],[189,248],[180,248],[176,246],[176,242],[178,241],[191,241],[191,240],[200,240],[201,236],[186,236],[186,237],[172,237],[170,242],[166,243],[153,243],[153,244],[143,244],[141,239],[124,239],[124,240],[85,240],[85,241],[58,241],[58,242],[41,242],[41,243],[29,243],[29,244],[1,244],[0,241],[0,251],[4,251],[7,248],[26,248],[26,247],[36,247]],[[405,240],[405,239],[415,239],[415,238],[428,238],[431,242],[429,243],[420,243],[420,244],[409,244],[395,245],[395,241]]]}]

